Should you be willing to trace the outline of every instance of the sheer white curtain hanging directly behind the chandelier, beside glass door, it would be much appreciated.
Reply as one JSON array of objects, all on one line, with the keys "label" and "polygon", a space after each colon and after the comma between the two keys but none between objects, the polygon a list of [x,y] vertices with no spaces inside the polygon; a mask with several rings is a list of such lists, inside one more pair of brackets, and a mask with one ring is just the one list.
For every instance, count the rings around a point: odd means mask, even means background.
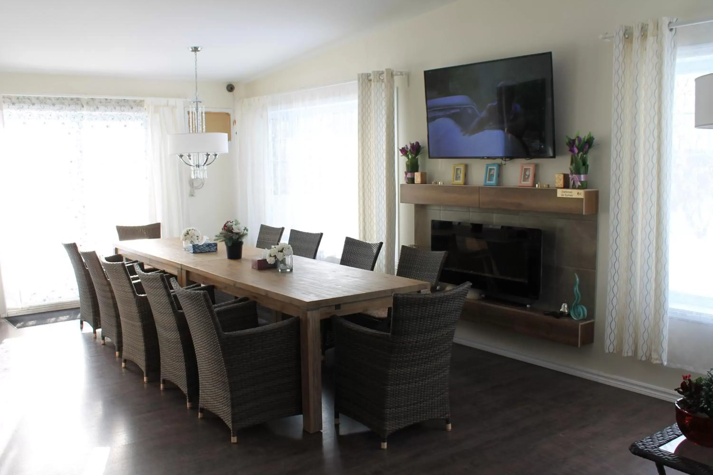
[{"label": "sheer white curtain hanging directly behind the chandelier, beside glass door", "polygon": [[148,127],[149,221],[161,223],[164,237],[180,236],[188,227],[188,167],[168,155],[168,135],[185,130],[185,101],[146,99]]}]

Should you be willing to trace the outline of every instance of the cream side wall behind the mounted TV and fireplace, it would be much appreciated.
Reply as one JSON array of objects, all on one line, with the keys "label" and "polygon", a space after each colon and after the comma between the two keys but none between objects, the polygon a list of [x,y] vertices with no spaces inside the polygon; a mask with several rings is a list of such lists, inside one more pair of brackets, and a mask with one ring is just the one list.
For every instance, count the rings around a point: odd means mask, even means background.
[{"label": "cream side wall behind the mounted TV and fireplace", "polygon": [[[399,143],[426,142],[424,69],[486,61],[508,56],[553,51],[555,70],[556,140],[560,156],[538,163],[536,180],[553,184],[554,174],[566,172],[564,136],[592,131],[598,146],[592,152],[590,187],[600,189],[599,244],[597,249],[597,325],[595,344],[569,348],[505,330],[463,324],[457,337],[472,345],[517,354],[543,365],[584,372],[594,379],[609,377],[637,382],[646,392],[665,394],[679,381],[679,370],[604,353],[607,259],[609,256],[609,162],[611,135],[612,43],[598,36],[620,24],[658,16],[683,21],[713,18],[709,0],[460,0],[428,14],[409,19],[368,36],[352,38],[329,51],[291,63],[245,84],[245,97],[312,88],[347,80],[357,73],[394,68],[411,73],[409,84],[399,80]],[[691,31],[710,31],[696,26]],[[687,31],[687,33],[691,33]],[[454,160],[421,160],[421,170],[449,182]],[[479,184],[486,162],[466,160],[468,184]],[[520,160],[501,172],[502,184],[516,184]],[[401,165],[403,167],[403,164]],[[401,173],[402,174],[402,173]],[[413,240],[413,210],[401,206],[401,240]],[[477,367],[473,368],[477,371]],[[649,386],[650,385],[650,386]],[[659,389],[656,389],[659,388]],[[663,388],[663,390],[660,390]],[[663,391],[663,392],[662,392]],[[670,394],[670,391],[667,392]]]}]

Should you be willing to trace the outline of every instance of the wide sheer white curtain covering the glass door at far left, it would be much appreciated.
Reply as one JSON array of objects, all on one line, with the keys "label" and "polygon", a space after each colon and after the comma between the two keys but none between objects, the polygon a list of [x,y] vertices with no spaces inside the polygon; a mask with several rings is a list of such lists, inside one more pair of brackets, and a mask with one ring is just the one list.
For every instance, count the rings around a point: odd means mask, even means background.
[{"label": "wide sheer white curtain covering the glass door at far left", "polygon": [[0,268],[8,311],[76,301],[63,242],[111,254],[150,221],[142,100],[3,96]]}]

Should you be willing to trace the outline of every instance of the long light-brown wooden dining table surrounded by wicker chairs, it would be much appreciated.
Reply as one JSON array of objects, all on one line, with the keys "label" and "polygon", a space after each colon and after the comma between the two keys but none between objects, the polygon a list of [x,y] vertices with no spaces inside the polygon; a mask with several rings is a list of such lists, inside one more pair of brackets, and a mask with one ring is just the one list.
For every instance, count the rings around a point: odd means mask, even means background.
[{"label": "long light-brown wooden dining table surrounded by wicker chairs", "polygon": [[337,263],[294,256],[294,271],[257,271],[251,259],[262,249],[243,246],[242,259],[229,260],[223,244],[217,252],[191,254],[178,238],[138,239],[115,244],[118,254],[178,276],[178,283],[213,285],[233,296],[248,297],[300,319],[302,345],[302,427],[322,430],[322,346],[320,320],[392,306],[394,293],[429,288],[429,283]]}]

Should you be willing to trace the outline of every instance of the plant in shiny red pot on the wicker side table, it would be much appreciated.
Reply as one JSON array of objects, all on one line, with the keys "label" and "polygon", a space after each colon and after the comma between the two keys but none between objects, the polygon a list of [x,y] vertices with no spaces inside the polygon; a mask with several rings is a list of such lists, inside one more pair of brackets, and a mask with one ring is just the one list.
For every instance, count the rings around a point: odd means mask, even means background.
[{"label": "plant in shiny red pot on the wicker side table", "polygon": [[683,396],[676,401],[676,423],[681,434],[694,444],[713,447],[713,369],[695,380],[684,375],[676,392]]}]

